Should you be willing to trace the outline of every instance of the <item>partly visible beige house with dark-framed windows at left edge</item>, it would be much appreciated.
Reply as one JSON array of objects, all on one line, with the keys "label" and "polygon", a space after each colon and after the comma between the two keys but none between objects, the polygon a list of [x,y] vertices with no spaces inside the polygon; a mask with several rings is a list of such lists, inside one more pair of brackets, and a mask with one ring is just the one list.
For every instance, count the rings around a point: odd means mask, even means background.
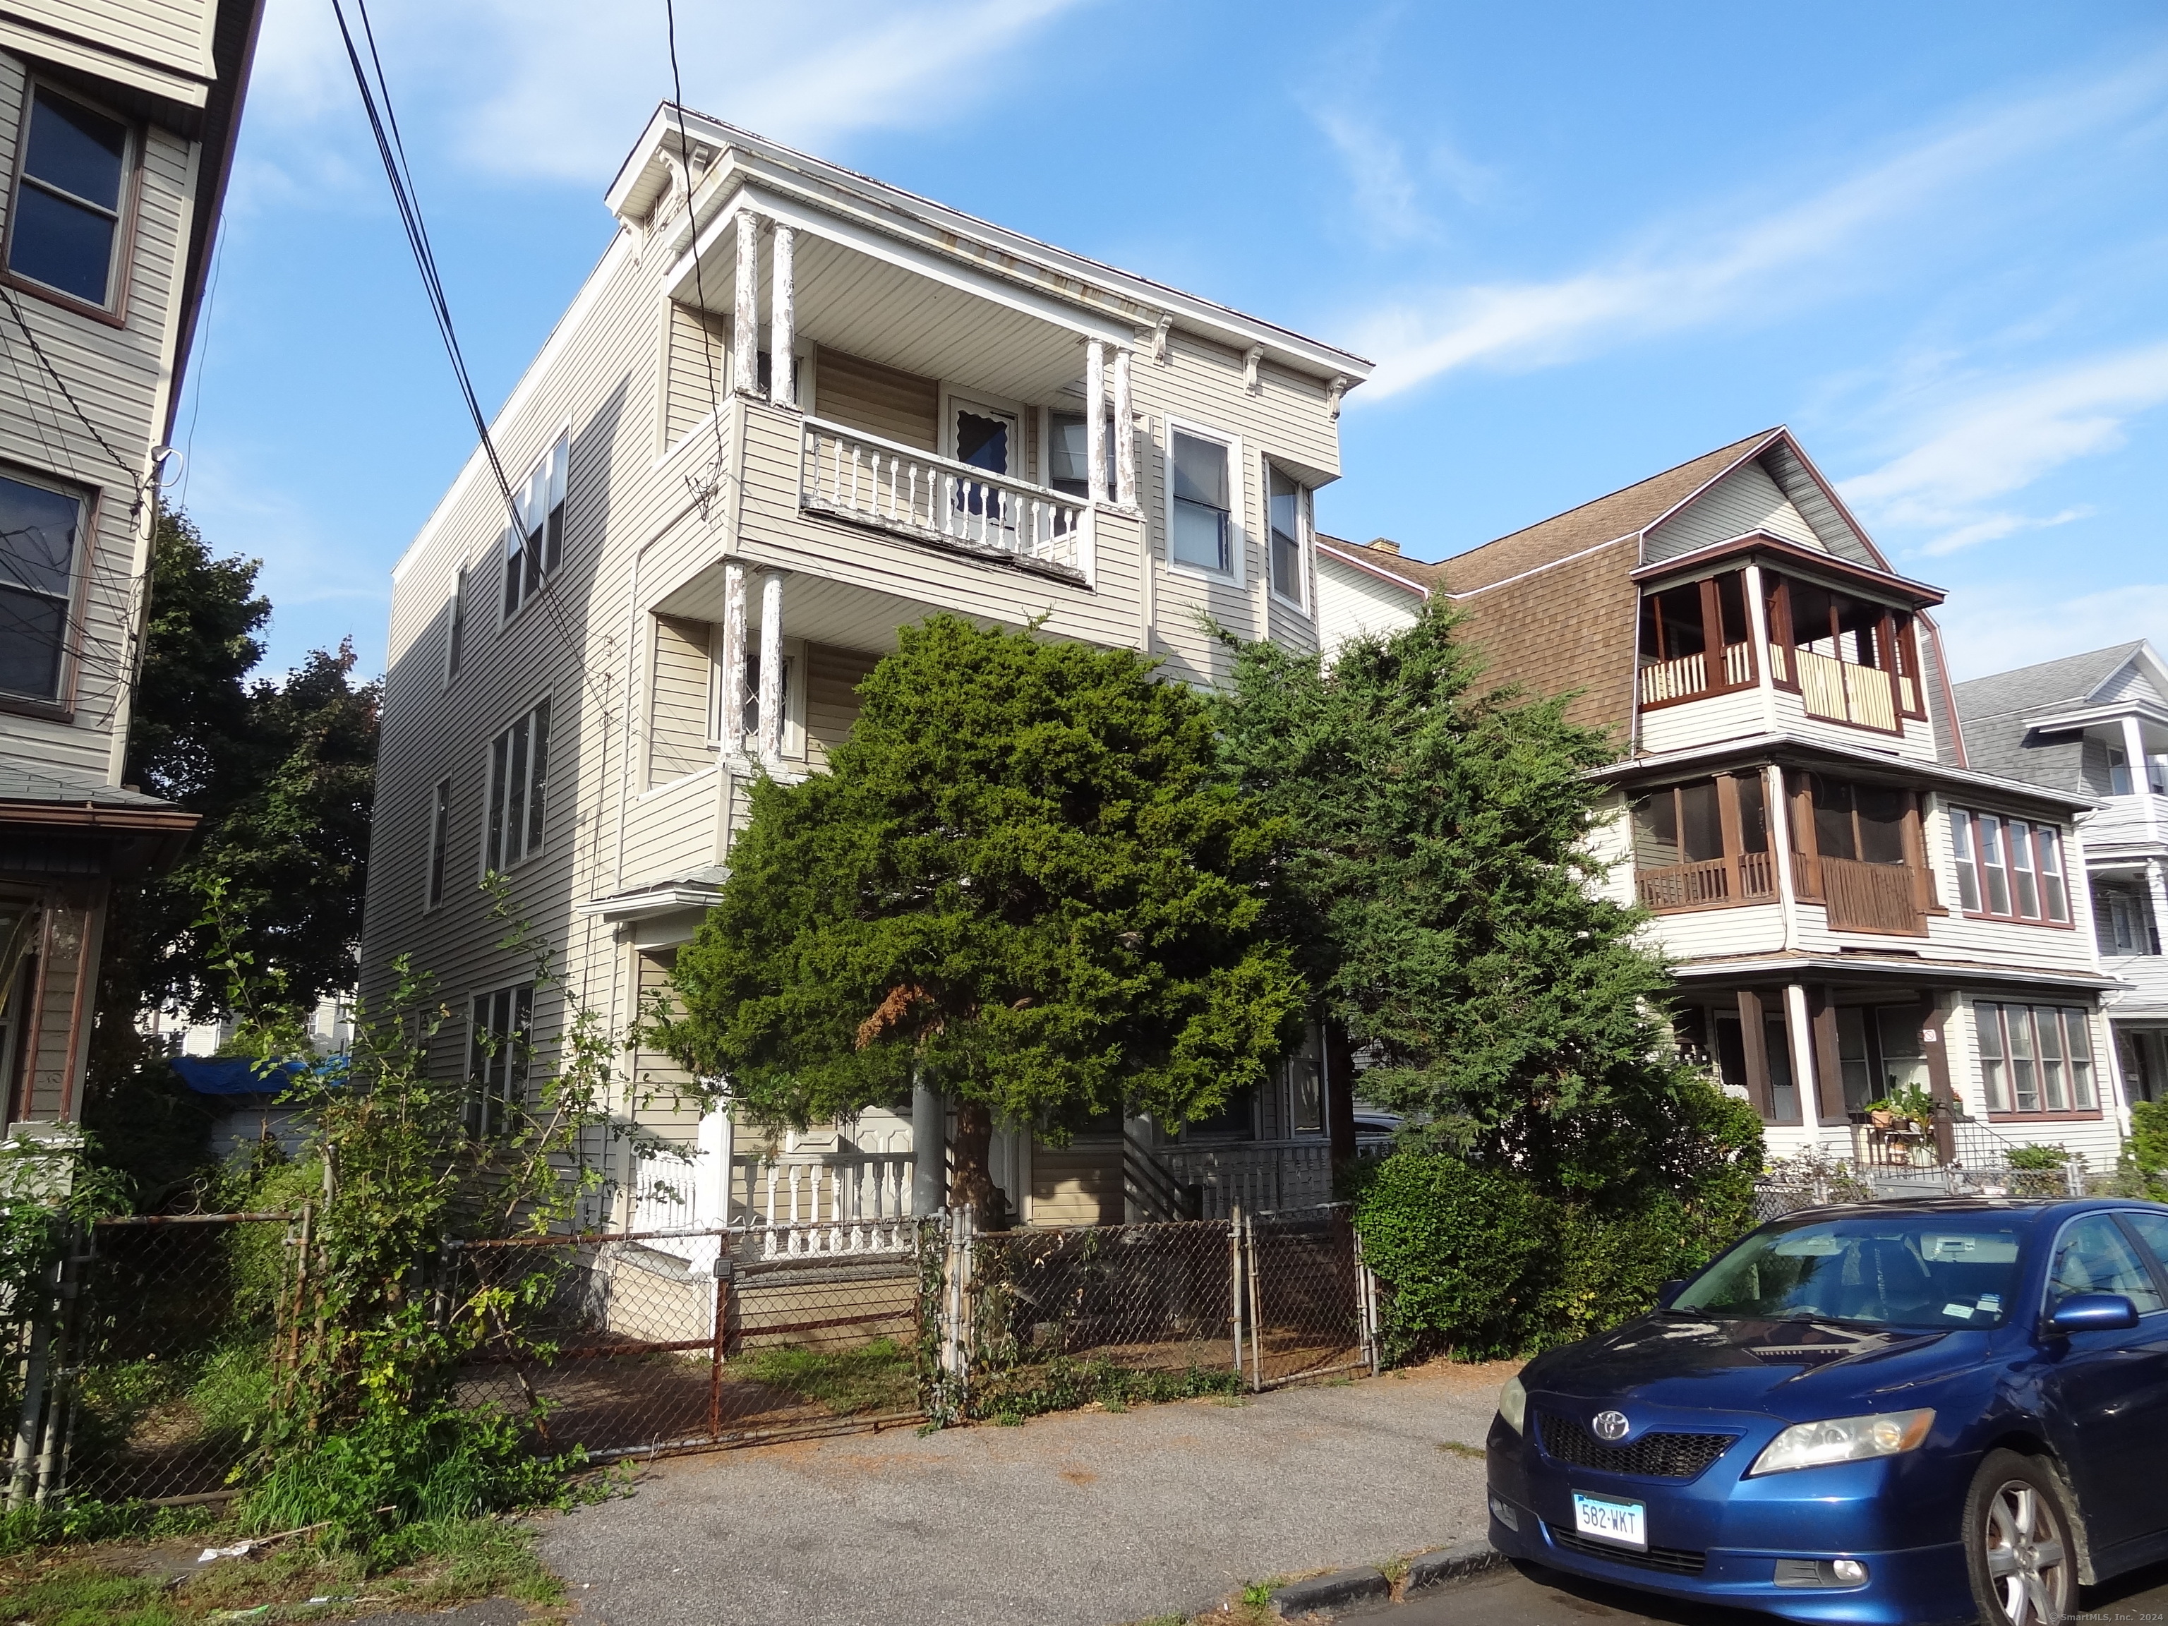
[{"label": "partly visible beige house with dark-framed windows at left edge", "polygon": [[165,442],[262,0],[0,4],[0,1084],[76,1119],[113,882],[195,817],[121,785]]}]

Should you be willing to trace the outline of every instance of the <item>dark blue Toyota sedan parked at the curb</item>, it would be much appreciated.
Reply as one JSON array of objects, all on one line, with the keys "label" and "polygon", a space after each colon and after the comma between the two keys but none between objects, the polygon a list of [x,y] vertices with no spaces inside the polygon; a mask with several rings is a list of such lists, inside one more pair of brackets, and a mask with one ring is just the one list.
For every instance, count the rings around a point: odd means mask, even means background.
[{"label": "dark blue Toyota sedan parked at the curb", "polygon": [[1678,1598],[2053,1626],[2168,1557],[2168,1208],[1763,1225],[1505,1385],[1489,1511],[1500,1552]]}]

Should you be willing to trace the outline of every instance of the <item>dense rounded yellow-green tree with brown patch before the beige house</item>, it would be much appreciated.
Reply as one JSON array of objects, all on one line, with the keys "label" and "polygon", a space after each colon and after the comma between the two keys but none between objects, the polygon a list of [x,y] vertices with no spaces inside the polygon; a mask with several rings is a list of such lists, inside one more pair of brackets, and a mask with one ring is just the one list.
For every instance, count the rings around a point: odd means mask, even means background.
[{"label": "dense rounded yellow-green tree with brown patch before the beige house", "polygon": [[765,1123],[956,1101],[952,1201],[995,1212],[995,1121],[1169,1125],[1260,1082],[1301,976],[1264,932],[1275,820],[1212,715],[1127,650],[906,627],[826,774],[763,780],[655,1036]]}]

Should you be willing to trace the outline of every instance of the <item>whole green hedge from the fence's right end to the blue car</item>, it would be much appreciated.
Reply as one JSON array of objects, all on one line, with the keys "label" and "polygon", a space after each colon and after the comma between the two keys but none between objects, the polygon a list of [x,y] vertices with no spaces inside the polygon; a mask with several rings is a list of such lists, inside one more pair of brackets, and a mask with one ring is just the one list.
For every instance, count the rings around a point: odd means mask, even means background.
[{"label": "whole green hedge from the fence's right end to the blue car", "polygon": [[1364,1260],[1388,1288],[1392,1362],[1528,1355],[1615,1327],[1706,1264],[1741,1221],[1661,1190],[1557,1201],[1518,1175],[1431,1151],[1396,1151],[1355,1192]]}]

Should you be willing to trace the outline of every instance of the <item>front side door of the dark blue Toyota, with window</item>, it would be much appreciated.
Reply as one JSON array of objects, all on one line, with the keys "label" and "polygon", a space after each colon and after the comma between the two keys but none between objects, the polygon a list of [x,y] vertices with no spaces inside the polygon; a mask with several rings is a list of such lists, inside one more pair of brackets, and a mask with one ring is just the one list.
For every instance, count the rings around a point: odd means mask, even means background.
[{"label": "front side door of the dark blue Toyota, with window", "polygon": [[[2114,1548],[2161,1526],[2159,1474],[2168,1461],[2168,1301],[2114,1214],[2062,1227],[2042,1314],[2081,1292],[2116,1292],[2138,1305],[2127,1331],[2073,1333],[2049,1342],[2042,1375],[2049,1435],[2077,1481],[2077,1502],[2103,1567]],[[2055,1344],[2064,1348],[2055,1353]]]}]

